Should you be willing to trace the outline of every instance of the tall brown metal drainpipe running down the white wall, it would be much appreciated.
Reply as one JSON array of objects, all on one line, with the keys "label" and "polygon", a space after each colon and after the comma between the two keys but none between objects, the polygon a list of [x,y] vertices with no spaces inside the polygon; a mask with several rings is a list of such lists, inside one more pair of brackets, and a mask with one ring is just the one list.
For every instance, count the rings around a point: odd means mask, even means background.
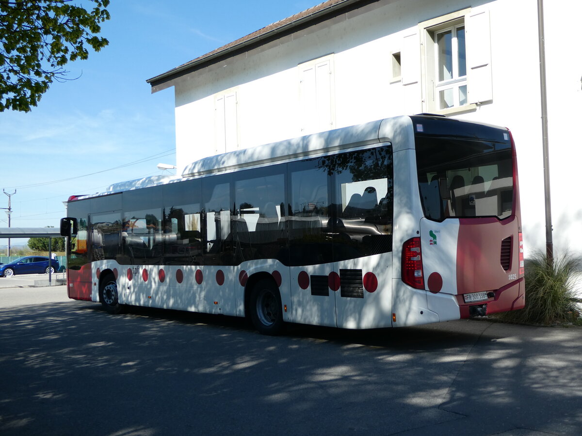
[{"label": "tall brown metal drainpipe running down the white wall", "polygon": [[544,0],[538,0],[538,35],[540,38],[540,94],[542,109],[542,152],[544,153],[544,195],[546,221],[546,256],[553,262],[552,205],[549,187],[548,100],[545,76]]}]

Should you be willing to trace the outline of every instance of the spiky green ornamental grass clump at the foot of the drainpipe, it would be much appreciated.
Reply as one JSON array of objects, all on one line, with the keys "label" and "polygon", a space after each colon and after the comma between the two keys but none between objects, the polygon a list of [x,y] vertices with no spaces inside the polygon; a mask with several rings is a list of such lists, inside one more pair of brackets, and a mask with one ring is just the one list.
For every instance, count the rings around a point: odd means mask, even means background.
[{"label": "spiky green ornamental grass clump at the foot of the drainpipe", "polygon": [[553,262],[544,253],[535,253],[526,261],[526,306],[500,313],[499,318],[527,324],[580,324],[573,288],[579,266],[579,259],[569,253],[556,256]]}]

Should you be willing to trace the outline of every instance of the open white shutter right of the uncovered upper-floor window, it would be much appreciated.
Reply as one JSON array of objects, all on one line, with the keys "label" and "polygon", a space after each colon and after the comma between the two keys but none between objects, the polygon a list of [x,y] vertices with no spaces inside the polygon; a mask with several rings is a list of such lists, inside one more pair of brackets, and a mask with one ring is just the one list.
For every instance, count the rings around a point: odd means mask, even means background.
[{"label": "open white shutter right of the uncovered upper-floor window", "polygon": [[467,94],[469,103],[493,99],[491,69],[491,27],[489,10],[471,10],[467,31]]}]

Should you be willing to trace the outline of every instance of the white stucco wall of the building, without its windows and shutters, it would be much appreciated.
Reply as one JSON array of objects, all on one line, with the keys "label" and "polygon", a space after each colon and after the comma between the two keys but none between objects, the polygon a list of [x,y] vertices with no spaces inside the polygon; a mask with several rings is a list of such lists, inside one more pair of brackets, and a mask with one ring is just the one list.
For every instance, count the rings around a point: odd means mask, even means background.
[{"label": "white stucco wall of the building, without its windows and shutters", "polygon": [[[491,18],[493,100],[455,115],[509,127],[517,145],[526,255],[545,247],[537,1],[473,3]],[[271,42],[175,81],[176,157],[183,167],[214,153],[215,99],[236,91],[238,146],[301,135],[298,65],[333,53],[335,126],[423,112],[420,84],[391,83],[391,52],[417,24],[467,8],[464,0],[370,5]],[[582,56],[577,20],[582,2],[545,2],[553,238],[556,251],[579,250],[577,199],[582,120]],[[468,48],[470,50],[470,48]],[[419,54],[420,56],[420,54]]]}]

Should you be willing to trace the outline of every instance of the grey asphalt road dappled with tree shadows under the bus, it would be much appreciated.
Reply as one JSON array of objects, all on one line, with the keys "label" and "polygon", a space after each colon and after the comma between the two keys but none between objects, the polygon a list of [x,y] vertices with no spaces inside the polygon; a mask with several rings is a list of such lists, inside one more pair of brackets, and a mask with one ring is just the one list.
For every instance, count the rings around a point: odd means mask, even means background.
[{"label": "grey asphalt road dappled with tree shadows under the bus", "polygon": [[582,434],[582,328],[462,320],[393,330],[0,289],[0,434]]}]

